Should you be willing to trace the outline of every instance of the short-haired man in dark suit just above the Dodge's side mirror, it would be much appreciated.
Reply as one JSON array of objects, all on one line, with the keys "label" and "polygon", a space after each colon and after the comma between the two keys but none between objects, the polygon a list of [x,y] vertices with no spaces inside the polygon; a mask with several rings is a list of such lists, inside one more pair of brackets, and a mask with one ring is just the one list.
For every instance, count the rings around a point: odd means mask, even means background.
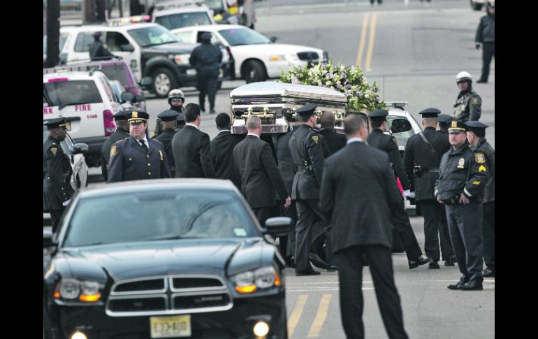
[{"label": "short-haired man in dark suit just above the Dodge's side mirror", "polygon": [[247,136],[233,149],[233,163],[241,182],[241,193],[262,227],[272,217],[276,205],[275,191],[285,196],[284,207],[291,198],[272,157],[268,143],[260,139],[261,120],[256,115],[247,119]]}]

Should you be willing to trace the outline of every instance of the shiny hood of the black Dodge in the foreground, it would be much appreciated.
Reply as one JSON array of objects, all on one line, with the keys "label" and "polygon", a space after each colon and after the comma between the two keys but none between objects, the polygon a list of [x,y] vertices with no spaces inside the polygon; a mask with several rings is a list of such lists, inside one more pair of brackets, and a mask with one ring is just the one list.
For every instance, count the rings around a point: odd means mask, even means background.
[{"label": "shiny hood of the black Dodge in the foreground", "polygon": [[75,276],[89,266],[100,266],[117,281],[196,273],[224,276],[228,266],[234,266],[233,271],[259,267],[263,246],[261,238],[160,240],[89,246],[64,255]]}]

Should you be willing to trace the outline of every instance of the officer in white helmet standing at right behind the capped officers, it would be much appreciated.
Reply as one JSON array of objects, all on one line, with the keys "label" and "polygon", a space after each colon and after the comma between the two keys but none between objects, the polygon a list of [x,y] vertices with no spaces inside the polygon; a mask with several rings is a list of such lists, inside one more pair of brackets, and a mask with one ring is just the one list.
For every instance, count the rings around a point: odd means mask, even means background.
[{"label": "officer in white helmet standing at right behind the capped officers", "polygon": [[460,94],[454,103],[454,119],[460,122],[479,120],[482,99],[477,92],[472,90],[471,75],[465,71],[458,73],[456,83],[460,89]]}]

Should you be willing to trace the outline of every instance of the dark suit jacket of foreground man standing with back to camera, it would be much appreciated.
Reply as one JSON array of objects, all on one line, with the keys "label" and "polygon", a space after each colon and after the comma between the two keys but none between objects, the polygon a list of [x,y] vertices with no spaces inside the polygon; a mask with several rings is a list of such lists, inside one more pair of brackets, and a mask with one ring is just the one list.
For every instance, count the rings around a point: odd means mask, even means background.
[{"label": "dark suit jacket of foreground man standing with back to camera", "polygon": [[385,152],[355,142],[330,156],[319,199],[330,216],[333,252],[358,245],[392,247],[391,210],[402,208],[403,199]]}]

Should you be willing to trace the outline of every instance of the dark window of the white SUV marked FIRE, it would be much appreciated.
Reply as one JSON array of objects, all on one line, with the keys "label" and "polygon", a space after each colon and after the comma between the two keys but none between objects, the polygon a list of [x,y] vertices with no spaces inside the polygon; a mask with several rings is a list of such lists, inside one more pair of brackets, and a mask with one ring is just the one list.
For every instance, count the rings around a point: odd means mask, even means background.
[{"label": "dark window of the white SUV marked FIRE", "polygon": [[43,101],[49,106],[77,105],[103,102],[94,80],[54,81],[43,83]]}]

